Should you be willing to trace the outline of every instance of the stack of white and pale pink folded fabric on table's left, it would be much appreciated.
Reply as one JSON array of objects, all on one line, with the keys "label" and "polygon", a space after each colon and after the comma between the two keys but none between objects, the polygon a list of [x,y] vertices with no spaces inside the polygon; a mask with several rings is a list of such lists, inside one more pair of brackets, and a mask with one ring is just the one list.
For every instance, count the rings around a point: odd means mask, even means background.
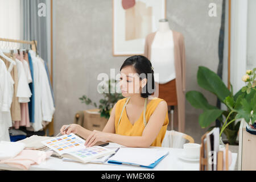
[{"label": "stack of white and pale pink folded fabric on table's left", "polygon": [[52,151],[24,150],[22,142],[0,142],[0,164],[8,164],[23,170],[28,170],[33,164],[44,162]]}]

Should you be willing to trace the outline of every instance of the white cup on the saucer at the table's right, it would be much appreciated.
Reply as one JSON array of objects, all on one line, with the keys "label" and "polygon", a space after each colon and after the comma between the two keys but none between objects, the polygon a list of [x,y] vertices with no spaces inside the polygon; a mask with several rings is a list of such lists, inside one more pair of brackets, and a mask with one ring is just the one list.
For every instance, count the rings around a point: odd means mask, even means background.
[{"label": "white cup on the saucer at the table's right", "polygon": [[199,159],[200,157],[200,144],[197,143],[185,143],[184,148],[184,158],[188,159]]}]

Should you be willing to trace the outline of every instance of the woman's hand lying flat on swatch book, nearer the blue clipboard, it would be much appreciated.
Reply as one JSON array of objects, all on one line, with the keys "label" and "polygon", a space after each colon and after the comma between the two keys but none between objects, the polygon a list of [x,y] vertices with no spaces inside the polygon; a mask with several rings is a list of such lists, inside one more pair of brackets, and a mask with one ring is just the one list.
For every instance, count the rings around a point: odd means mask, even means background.
[{"label": "woman's hand lying flat on swatch book, nearer the blue clipboard", "polygon": [[86,139],[85,147],[92,147],[96,142],[106,142],[108,134],[102,131],[93,130],[92,134]]}]

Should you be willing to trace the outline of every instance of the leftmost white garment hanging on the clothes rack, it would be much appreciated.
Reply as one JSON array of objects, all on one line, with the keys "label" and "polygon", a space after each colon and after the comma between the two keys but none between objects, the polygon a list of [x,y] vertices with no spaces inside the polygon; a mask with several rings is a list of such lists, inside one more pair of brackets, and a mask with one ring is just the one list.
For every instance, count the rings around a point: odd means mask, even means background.
[{"label": "leftmost white garment hanging on the clothes rack", "polygon": [[13,126],[10,112],[13,93],[14,80],[7,71],[5,63],[0,59],[0,140],[9,142],[9,127]]}]

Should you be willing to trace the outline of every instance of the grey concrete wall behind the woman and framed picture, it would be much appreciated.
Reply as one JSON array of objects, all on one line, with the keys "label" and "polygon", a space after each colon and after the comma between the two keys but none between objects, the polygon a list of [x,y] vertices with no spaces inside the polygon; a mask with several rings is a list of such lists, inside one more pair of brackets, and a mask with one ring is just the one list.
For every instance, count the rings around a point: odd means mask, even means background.
[{"label": "grey concrete wall behind the woman and framed picture", "polygon": [[[98,102],[97,76],[119,72],[127,57],[112,56],[112,0],[55,0],[53,87],[55,93],[55,133],[72,123],[76,111],[92,109],[81,104],[83,94]],[[217,5],[217,17],[209,17],[209,3]],[[196,73],[199,65],[217,71],[218,35],[221,0],[167,0],[167,19],[172,30],[185,38],[187,56],[187,91],[200,90],[210,104],[216,97],[199,88]],[[199,114],[186,101],[187,114]],[[189,123],[190,122],[190,123]],[[187,126],[199,125],[198,121]]]}]

